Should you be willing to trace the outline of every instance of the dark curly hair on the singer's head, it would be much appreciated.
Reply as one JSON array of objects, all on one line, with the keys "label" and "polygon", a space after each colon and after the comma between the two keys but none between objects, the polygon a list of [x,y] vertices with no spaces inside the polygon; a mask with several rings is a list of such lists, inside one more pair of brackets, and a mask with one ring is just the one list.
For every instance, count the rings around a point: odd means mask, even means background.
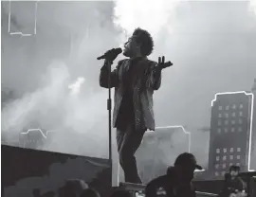
[{"label": "dark curly hair on the singer's head", "polygon": [[154,48],[154,41],[150,33],[142,28],[137,27],[133,33],[136,41],[141,45],[141,53],[144,56],[149,56]]}]

